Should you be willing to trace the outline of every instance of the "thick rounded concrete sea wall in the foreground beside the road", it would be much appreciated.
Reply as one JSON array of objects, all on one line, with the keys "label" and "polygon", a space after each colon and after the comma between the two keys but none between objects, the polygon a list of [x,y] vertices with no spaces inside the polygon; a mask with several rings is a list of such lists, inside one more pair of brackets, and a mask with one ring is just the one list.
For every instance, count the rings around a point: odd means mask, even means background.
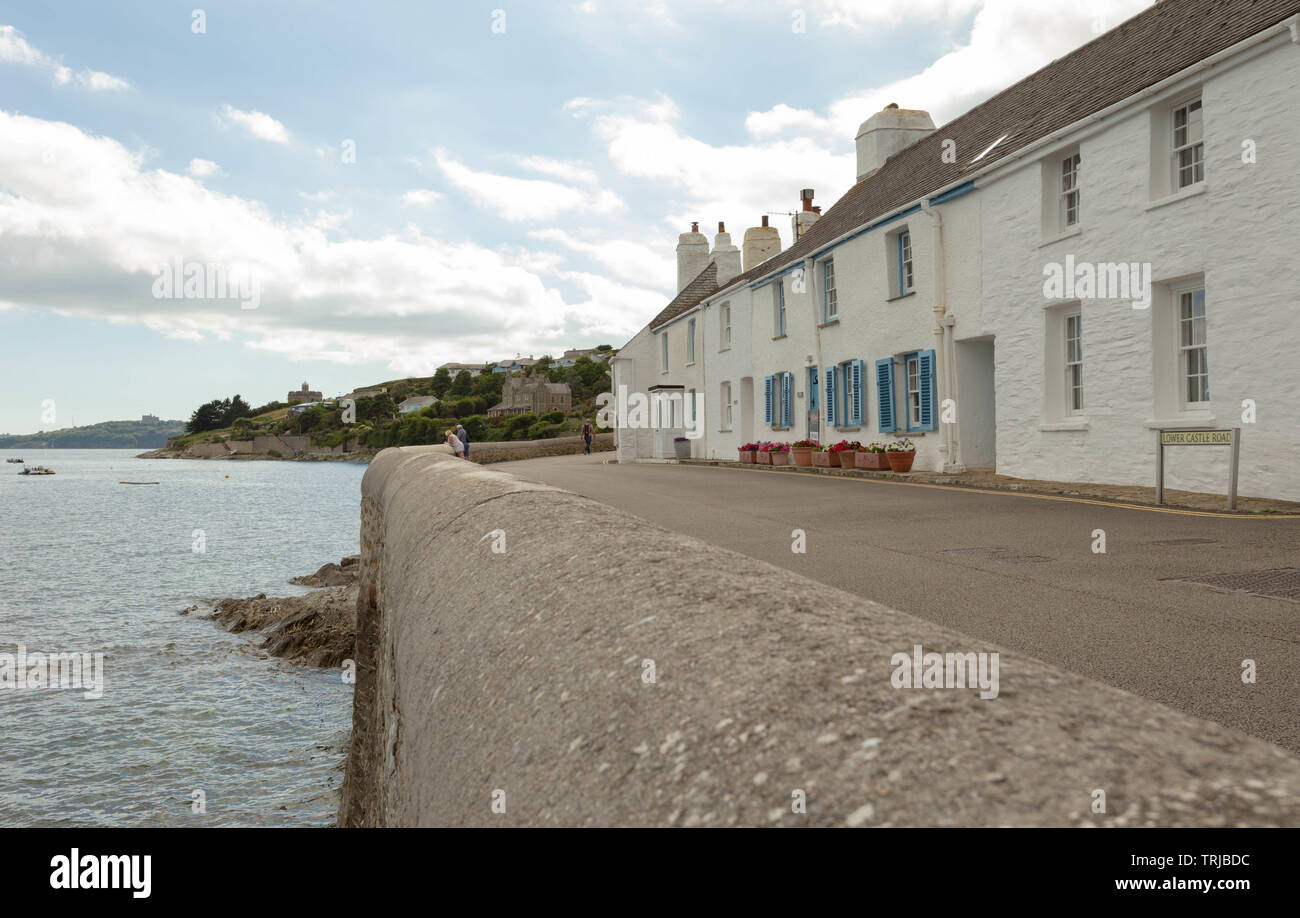
[{"label": "thick rounded concrete sea wall in the foreground beside the road", "polygon": [[341,826],[1300,824],[1277,746],[1011,653],[894,688],[1000,649],[446,447],[361,490]]}]

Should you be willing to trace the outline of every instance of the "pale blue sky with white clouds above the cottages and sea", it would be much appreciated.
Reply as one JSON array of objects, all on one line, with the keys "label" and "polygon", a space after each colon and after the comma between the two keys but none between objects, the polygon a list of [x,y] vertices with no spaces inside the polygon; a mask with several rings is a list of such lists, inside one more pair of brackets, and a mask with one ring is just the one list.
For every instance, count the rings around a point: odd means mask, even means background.
[{"label": "pale blue sky with white clouds above the cottages and sea", "polygon": [[692,221],[788,246],[884,105],[1149,5],[198,3],[0,0],[0,433],[619,347]]}]

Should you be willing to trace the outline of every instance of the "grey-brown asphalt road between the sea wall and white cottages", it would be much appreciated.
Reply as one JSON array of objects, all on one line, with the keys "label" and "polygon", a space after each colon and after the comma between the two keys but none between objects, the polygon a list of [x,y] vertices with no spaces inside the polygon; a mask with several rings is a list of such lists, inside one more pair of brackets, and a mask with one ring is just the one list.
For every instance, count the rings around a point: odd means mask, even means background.
[{"label": "grey-brown asphalt road between the sea wall and white cottages", "polygon": [[493,468],[1300,752],[1300,603],[1174,583],[1300,567],[1300,520],[607,458]]}]

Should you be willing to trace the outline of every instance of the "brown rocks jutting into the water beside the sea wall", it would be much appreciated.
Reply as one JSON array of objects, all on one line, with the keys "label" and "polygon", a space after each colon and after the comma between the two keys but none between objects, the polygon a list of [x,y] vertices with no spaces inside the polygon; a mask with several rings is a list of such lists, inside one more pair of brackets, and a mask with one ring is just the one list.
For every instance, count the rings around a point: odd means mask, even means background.
[{"label": "brown rocks jutting into the water beside the sea wall", "polygon": [[263,632],[260,649],[299,666],[337,668],[354,658],[356,645],[356,576],[360,555],[325,564],[316,573],[289,583],[321,589],[303,596],[218,599],[211,611],[200,606],[181,610],[233,633]]}]

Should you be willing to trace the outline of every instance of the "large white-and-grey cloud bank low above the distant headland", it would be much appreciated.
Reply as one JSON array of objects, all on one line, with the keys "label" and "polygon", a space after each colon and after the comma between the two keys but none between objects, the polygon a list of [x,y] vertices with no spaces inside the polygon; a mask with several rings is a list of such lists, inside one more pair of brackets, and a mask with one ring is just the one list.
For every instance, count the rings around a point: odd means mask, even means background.
[{"label": "large white-and-grey cloud bank low above the distant headland", "polygon": [[[0,137],[3,303],[395,372],[558,352],[580,329],[630,335],[662,306],[656,291],[556,273],[554,256],[443,242],[415,225],[334,239],[347,213],[277,218],[73,125],[0,111]],[[247,268],[260,307],[155,299],[155,269],[177,257]]]}]

